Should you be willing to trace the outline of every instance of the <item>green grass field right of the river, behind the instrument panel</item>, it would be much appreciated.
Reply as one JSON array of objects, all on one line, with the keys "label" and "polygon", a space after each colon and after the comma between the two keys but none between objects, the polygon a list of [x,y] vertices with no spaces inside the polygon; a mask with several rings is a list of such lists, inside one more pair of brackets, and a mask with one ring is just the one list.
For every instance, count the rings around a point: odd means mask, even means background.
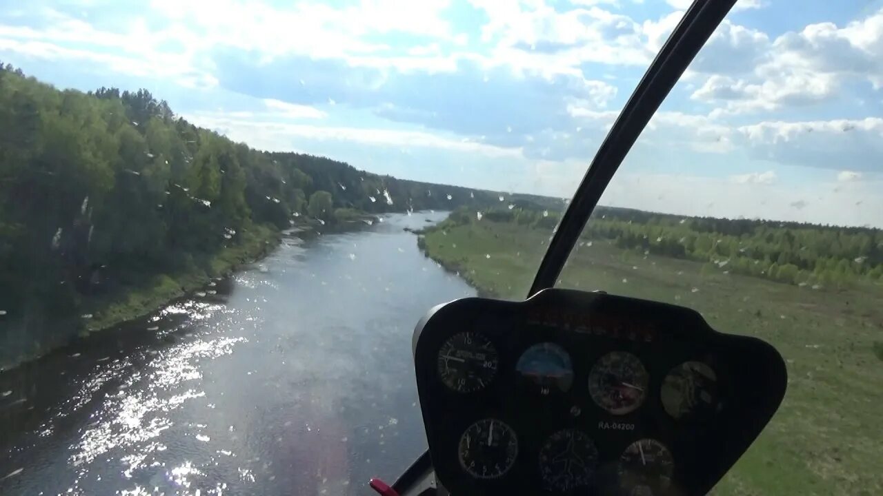
[{"label": "green grass field right of the river, behind the instrument panel", "polygon": [[[522,298],[550,236],[474,222],[430,230],[420,244],[479,291]],[[883,494],[883,288],[801,288],[725,270],[582,240],[559,285],[688,306],[722,332],[780,350],[789,368],[781,409],[713,494]]]}]

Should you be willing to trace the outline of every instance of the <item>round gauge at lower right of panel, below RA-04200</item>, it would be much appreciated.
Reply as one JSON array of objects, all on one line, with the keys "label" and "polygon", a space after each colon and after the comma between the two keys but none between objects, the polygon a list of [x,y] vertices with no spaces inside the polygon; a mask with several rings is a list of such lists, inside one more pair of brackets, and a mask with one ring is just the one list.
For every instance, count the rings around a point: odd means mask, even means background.
[{"label": "round gauge at lower right of panel, below RA-04200", "polygon": [[628,494],[659,494],[671,484],[675,460],[658,440],[637,440],[619,457],[619,477]]}]

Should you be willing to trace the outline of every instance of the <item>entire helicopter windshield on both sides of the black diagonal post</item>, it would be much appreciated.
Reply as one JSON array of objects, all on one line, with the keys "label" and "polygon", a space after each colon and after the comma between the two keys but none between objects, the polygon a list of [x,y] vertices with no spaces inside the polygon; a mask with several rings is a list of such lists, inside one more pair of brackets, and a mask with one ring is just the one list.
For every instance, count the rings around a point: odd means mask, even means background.
[{"label": "entire helicopter windshield on both sides of the black diagonal post", "polygon": [[[414,324],[525,297],[688,4],[0,8],[0,493],[391,482]],[[602,199],[647,213],[600,208],[562,274],[785,347],[724,492],[881,484],[880,12],[737,4]]]}]

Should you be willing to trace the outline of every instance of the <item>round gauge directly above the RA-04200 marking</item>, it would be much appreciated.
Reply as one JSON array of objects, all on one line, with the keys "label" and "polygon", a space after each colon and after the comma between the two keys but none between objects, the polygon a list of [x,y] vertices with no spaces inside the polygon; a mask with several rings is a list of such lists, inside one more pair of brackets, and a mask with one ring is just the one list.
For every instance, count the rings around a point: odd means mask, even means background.
[{"label": "round gauge directly above the RA-04200 marking", "polygon": [[625,415],[644,402],[649,380],[638,357],[613,351],[600,357],[589,372],[589,395],[609,413]]}]

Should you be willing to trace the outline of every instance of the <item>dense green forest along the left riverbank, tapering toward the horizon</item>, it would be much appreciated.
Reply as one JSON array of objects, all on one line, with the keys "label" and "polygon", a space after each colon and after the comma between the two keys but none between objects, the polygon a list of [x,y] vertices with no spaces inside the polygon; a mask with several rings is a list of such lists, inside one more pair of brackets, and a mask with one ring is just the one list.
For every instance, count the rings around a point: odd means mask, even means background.
[{"label": "dense green forest along the left riverbank, tapering toward the horizon", "polygon": [[158,274],[178,288],[186,274],[215,275],[219,252],[256,256],[307,217],[326,226],[500,201],[254,150],[188,123],[146,90],[61,91],[8,64],[0,129],[0,355],[39,348],[59,325],[66,335],[98,321],[106,301],[160,284]]}]

